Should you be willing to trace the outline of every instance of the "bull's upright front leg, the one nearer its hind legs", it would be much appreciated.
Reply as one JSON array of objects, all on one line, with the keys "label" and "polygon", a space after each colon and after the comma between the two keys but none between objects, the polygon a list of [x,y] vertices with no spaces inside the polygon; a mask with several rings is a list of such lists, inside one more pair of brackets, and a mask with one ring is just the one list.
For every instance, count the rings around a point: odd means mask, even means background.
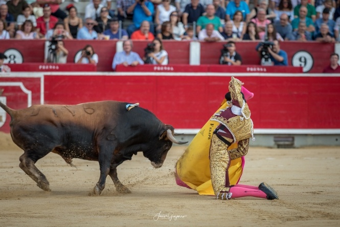
[{"label": "bull's upright front leg, the one nearer its hind legs", "polygon": [[93,189],[94,195],[100,195],[105,188],[105,181],[108,173],[110,172],[111,159],[115,150],[115,146],[111,141],[104,141],[98,144],[98,162],[100,168],[100,177],[98,183]]}]

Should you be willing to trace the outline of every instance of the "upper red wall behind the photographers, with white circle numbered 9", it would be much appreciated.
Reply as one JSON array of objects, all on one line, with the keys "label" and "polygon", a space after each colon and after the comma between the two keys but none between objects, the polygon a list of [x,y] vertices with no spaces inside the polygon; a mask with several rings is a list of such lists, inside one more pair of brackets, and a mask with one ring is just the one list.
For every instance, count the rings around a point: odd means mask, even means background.
[{"label": "upper red wall behind the photographers, with white circle numbered 9", "polygon": [[[133,51],[141,57],[144,56],[144,48],[147,41],[134,41]],[[218,64],[220,50],[225,42],[206,43],[201,42],[200,64]],[[243,64],[257,65],[260,58],[255,51],[258,42],[241,41],[236,43],[237,52],[242,56]],[[99,56],[98,71],[110,72],[112,60],[116,53],[116,41],[113,40],[65,40],[65,47],[69,50],[67,62],[74,62],[78,51],[91,44]],[[8,49],[16,49],[23,56],[24,62],[43,62],[44,40],[2,40],[0,52]],[[164,49],[169,54],[170,64],[189,64],[190,41],[164,41]],[[289,65],[292,65],[293,56],[297,53],[297,64],[311,64],[309,73],[321,73],[329,64],[329,55],[334,52],[334,43],[320,42],[291,42],[281,43],[281,49],[288,54]],[[301,52],[303,51],[303,52]]]}]

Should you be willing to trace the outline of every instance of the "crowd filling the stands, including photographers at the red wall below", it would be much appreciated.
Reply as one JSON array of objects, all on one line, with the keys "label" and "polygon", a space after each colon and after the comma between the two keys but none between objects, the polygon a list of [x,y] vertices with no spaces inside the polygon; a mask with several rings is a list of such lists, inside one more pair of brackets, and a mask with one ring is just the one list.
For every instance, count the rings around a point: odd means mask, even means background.
[{"label": "crowd filling the stands, including photographers at the red wall below", "polygon": [[[67,57],[64,39],[150,40],[152,52],[143,60],[154,64],[168,62],[168,57],[160,60],[166,53],[162,40],[224,40],[228,55],[222,53],[221,64],[241,64],[236,41],[258,40],[256,50],[268,65],[288,64],[281,41],[340,41],[335,0],[254,0],[252,8],[241,0],[117,0],[117,10],[111,10],[111,0],[89,0],[84,18],[78,16],[78,1],[65,10],[62,2],[0,0],[0,39],[56,39],[61,62]],[[132,48],[131,40],[125,44]],[[131,59],[126,62],[140,62]]]}]

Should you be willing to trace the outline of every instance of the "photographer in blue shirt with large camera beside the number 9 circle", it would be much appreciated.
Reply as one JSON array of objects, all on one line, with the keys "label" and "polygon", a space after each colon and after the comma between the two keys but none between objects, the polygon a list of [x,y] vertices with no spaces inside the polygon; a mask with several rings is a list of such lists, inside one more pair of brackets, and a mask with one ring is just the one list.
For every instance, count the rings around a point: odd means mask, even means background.
[{"label": "photographer in blue shirt with large camera beside the number 9 circle", "polygon": [[288,65],[287,53],[280,50],[280,42],[278,40],[260,42],[256,50],[260,54],[261,65]]}]

